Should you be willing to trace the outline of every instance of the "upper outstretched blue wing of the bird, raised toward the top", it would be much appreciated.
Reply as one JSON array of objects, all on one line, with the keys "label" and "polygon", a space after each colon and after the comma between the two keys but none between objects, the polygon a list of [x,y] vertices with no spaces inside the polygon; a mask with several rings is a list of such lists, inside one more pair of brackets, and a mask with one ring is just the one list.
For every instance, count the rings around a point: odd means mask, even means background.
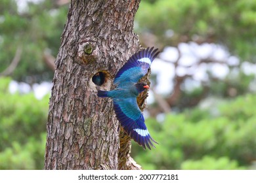
[{"label": "upper outstretched blue wing of the bird, raised toward the top", "polygon": [[119,84],[127,80],[138,82],[138,80],[146,75],[152,61],[159,54],[158,49],[146,48],[133,54],[131,58],[119,69],[114,79],[114,84]]}]

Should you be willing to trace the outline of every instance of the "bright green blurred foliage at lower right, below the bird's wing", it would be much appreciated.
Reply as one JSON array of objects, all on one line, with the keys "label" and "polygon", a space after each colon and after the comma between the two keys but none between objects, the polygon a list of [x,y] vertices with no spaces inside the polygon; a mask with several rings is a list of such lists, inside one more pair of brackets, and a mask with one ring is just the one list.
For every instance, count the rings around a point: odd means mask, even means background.
[{"label": "bright green blurred foliage at lower right, below the bird's wing", "polygon": [[168,114],[163,123],[146,120],[160,144],[146,153],[134,144],[135,161],[144,169],[249,169],[256,159],[256,95],[215,100],[209,108]]}]

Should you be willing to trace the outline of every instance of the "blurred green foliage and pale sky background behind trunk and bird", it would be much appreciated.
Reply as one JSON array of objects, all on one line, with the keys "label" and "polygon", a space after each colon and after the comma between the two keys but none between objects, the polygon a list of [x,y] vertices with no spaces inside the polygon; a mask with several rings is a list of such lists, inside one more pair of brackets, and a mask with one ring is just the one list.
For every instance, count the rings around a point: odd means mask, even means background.
[{"label": "blurred green foliage and pale sky background behind trunk and bird", "polygon": [[[0,169],[43,169],[53,61],[68,0],[0,0]],[[143,169],[256,169],[256,1],[142,0],[152,63]]]}]

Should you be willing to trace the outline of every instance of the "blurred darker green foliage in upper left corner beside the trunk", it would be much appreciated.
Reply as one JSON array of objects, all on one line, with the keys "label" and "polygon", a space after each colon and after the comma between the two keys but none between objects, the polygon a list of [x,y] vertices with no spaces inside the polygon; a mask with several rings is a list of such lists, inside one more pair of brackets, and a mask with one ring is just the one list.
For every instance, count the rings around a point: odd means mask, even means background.
[{"label": "blurred darker green foliage in upper left corner beside the trunk", "polygon": [[43,61],[49,50],[56,57],[60,36],[66,22],[68,6],[56,8],[53,1],[28,3],[28,10],[19,12],[16,1],[2,1],[0,8],[0,73],[14,58],[18,47],[22,55],[12,78],[18,81],[51,80],[51,71]]}]

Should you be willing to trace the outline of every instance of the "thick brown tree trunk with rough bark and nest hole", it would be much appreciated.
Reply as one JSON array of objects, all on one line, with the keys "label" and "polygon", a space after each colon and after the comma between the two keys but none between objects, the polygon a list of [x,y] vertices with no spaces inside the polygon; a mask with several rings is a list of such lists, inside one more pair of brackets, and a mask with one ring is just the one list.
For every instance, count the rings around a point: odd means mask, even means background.
[{"label": "thick brown tree trunk with rough bark and nest hole", "polygon": [[45,169],[140,169],[129,156],[131,140],[120,131],[112,100],[96,95],[114,88],[117,71],[140,48],[133,33],[139,3],[71,1],[55,63]]}]

